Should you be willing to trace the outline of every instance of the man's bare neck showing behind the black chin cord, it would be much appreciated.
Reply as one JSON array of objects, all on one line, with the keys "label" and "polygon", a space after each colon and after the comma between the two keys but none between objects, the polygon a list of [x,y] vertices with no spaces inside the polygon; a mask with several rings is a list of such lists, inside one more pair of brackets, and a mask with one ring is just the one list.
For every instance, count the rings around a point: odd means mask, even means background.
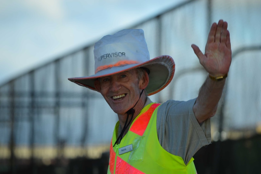
[{"label": "man's bare neck showing behind the black chin cord", "polygon": [[[130,122],[130,125],[133,122],[133,120],[139,115],[140,111],[144,108],[146,100],[147,100],[146,95],[145,95],[145,93],[143,93],[140,96],[140,99],[138,100],[137,104],[133,108],[135,110],[135,113],[134,113],[133,118],[132,118],[132,120]],[[120,126],[121,126],[121,128],[119,128],[119,130],[122,130],[123,127],[124,127],[124,124],[125,124],[125,122],[127,120],[127,113],[125,113],[124,115],[118,114],[118,118],[119,118],[119,123],[120,123]],[[129,122],[130,119],[131,119],[131,117],[129,116],[127,121]],[[123,135],[125,135],[127,133],[127,131],[129,130],[130,125],[127,127],[127,129],[125,130]]]}]

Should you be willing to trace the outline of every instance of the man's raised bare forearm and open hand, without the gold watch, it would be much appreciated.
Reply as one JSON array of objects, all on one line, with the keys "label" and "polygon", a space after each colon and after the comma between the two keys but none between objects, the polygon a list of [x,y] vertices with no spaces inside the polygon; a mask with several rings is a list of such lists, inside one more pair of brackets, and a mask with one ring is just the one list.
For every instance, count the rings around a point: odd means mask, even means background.
[{"label": "man's raised bare forearm and open hand, without the gold watch", "polygon": [[[228,73],[231,64],[230,33],[227,30],[227,22],[220,20],[218,24],[213,23],[208,35],[205,54],[192,44],[200,64],[212,77],[224,76]],[[199,123],[214,116],[218,102],[222,95],[225,79],[215,81],[207,77],[200,88],[199,95],[193,106],[193,112]]]}]

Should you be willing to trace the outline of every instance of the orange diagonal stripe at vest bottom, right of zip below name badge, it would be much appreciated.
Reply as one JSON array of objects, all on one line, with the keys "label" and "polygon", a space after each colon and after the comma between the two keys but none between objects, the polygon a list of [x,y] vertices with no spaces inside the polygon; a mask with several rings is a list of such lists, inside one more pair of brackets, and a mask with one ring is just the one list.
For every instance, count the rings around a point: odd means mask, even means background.
[{"label": "orange diagonal stripe at vest bottom, right of zip below name badge", "polygon": [[117,156],[115,174],[145,174]]}]

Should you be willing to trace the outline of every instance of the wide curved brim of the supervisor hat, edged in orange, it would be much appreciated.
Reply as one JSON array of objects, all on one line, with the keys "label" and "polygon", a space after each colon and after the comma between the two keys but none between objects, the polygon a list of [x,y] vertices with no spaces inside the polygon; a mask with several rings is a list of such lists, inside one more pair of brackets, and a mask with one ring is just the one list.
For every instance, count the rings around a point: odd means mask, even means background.
[{"label": "wide curved brim of the supervisor hat, edged in orange", "polygon": [[146,91],[149,96],[163,90],[170,83],[175,72],[175,63],[173,61],[173,58],[168,55],[163,55],[143,62],[141,64],[130,64],[119,67],[112,67],[99,71],[91,76],[73,77],[68,78],[68,80],[80,86],[97,91],[94,86],[94,81],[97,78],[111,76],[138,67],[146,67],[150,70],[149,84],[146,87]]}]

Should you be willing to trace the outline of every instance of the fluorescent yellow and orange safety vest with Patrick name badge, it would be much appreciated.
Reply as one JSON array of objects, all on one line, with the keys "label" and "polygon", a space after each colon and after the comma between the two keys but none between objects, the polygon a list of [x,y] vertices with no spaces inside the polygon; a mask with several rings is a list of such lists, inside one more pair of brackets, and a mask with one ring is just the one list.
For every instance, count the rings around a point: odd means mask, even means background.
[{"label": "fluorescent yellow and orange safety vest with Patrick name badge", "polygon": [[[168,153],[157,136],[157,109],[159,103],[144,107],[130,125],[120,144],[111,143],[107,173],[111,174],[196,174],[193,158],[186,165],[180,156]],[[117,122],[112,142],[117,140]],[[175,141],[175,137],[173,137]]]}]

